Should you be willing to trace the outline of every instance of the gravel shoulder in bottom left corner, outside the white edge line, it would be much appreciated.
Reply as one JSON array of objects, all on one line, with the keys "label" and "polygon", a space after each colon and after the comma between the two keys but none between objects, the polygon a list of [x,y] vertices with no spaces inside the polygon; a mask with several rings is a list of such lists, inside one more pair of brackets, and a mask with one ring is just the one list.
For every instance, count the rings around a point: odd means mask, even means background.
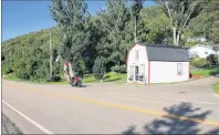
[{"label": "gravel shoulder in bottom left corner, outside the white edge line", "polygon": [[1,134],[22,134],[3,113],[1,115]]}]

